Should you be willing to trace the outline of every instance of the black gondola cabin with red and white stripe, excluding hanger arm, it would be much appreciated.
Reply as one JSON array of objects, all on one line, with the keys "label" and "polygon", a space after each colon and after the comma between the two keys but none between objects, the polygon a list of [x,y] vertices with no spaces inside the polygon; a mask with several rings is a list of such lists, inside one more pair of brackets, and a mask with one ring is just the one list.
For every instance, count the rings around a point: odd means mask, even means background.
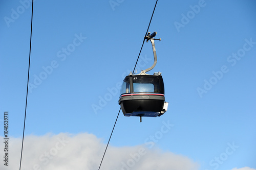
[{"label": "black gondola cabin with red and white stripe, excluding hanger arm", "polygon": [[167,111],[161,73],[126,76],[121,86],[119,105],[124,116],[157,117]]}]

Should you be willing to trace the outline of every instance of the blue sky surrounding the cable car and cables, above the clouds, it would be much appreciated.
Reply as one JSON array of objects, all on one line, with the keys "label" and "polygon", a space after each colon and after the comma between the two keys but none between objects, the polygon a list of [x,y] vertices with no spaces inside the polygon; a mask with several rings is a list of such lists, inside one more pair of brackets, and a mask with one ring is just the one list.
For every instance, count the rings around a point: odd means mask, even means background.
[{"label": "blue sky surrounding the cable car and cables, above the clouds", "polygon": [[[2,1],[0,6],[0,109],[2,115],[9,112],[15,154],[23,134],[31,5],[21,0]],[[95,155],[101,159],[120,108],[119,84],[133,71],[154,5],[155,1],[34,2],[25,145],[41,138],[50,143],[47,134],[69,134],[70,141],[81,139],[77,145],[94,154],[95,142],[86,140],[98,141],[100,154]],[[113,153],[120,154],[115,155],[120,160],[110,160],[113,167],[125,169],[122,162],[144,146],[145,161],[174,154],[180,162],[192,162],[177,169],[256,169],[255,7],[252,0],[158,1],[149,31],[156,31],[161,41],[155,41],[158,62],[149,73],[162,72],[168,111],[143,117],[142,123],[120,112],[110,141]],[[137,69],[153,62],[151,43],[144,43]],[[3,118],[0,121],[3,125]],[[106,159],[114,157],[110,153]],[[27,154],[28,162],[35,153]],[[44,167],[59,167],[54,160]],[[156,160],[150,162],[157,164]],[[102,168],[113,169],[106,162]],[[153,169],[142,160],[135,162],[130,169]],[[172,167],[174,162],[161,163]],[[18,158],[10,164],[16,168]],[[95,168],[98,165],[99,160]],[[26,159],[24,166],[32,169]]]}]

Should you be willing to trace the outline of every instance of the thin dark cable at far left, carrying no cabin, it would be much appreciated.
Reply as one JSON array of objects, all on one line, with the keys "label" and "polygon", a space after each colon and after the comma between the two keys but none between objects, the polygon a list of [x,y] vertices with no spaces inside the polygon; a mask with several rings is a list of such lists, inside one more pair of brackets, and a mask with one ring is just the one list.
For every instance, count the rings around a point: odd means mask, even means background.
[{"label": "thin dark cable at far left, carrying no cabin", "polygon": [[[28,66],[29,68],[30,68],[30,55],[31,55],[31,39],[32,39],[33,5],[34,5],[34,1],[32,0],[31,29],[30,29],[30,46],[29,46],[29,66]],[[23,152],[23,142],[24,142],[25,123],[26,123],[26,113],[27,113],[27,103],[28,103],[28,90],[29,90],[29,68],[28,68],[28,82],[27,82],[27,95],[26,95],[26,105],[25,105],[25,116],[24,116],[23,137],[22,137],[22,152]],[[22,152],[20,153],[19,170],[20,170],[20,167],[22,167]]]}]

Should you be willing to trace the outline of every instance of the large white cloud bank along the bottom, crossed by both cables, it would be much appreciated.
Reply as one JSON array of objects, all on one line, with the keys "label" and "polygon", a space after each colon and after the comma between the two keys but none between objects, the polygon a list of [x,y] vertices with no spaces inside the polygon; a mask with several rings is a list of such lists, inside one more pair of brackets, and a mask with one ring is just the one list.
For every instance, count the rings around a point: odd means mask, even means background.
[{"label": "large white cloud bank along the bottom, crossed by both cables", "polygon": [[[22,139],[10,138],[9,142],[8,167],[1,163],[0,169],[16,170],[19,169]],[[22,169],[95,170],[99,167],[105,147],[106,144],[102,143],[101,139],[88,133],[29,135],[24,139]],[[145,145],[135,147],[109,145],[100,169],[192,170],[199,169],[199,164],[185,156],[162,152],[155,147],[150,150]]]}]

